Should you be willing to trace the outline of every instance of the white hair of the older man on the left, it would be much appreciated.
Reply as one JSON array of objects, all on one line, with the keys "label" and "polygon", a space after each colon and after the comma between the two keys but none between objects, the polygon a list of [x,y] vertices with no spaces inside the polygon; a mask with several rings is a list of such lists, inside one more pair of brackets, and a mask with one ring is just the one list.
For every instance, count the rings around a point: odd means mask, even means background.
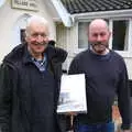
[{"label": "white hair of the older man on the left", "polygon": [[28,19],[28,23],[26,23],[26,28],[25,28],[25,34],[26,36],[30,35],[30,26],[31,24],[35,22],[35,23],[42,23],[44,24],[45,26],[48,28],[48,22],[43,18],[43,16],[40,16],[40,15],[32,15],[31,18]]}]

